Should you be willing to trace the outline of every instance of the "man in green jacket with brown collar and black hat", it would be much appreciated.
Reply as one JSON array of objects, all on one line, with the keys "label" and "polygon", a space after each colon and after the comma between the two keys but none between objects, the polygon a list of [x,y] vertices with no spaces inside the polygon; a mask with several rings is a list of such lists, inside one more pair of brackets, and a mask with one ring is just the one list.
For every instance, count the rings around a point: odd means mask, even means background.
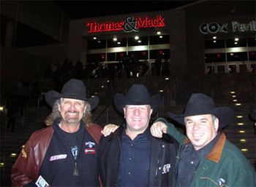
[{"label": "man in green jacket with brown collar and black hat", "polygon": [[215,108],[214,100],[197,93],[189,98],[184,114],[168,114],[186,126],[187,137],[165,119],[157,119],[151,133],[161,138],[167,132],[180,143],[177,187],[256,186],[252,165],[221,132],[233,119],[231,108]]}]

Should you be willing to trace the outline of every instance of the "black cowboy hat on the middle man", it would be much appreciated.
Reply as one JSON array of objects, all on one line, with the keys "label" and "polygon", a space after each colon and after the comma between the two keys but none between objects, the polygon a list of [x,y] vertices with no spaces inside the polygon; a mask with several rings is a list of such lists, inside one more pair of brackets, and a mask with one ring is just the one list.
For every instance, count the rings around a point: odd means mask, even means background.
[{"label": "black cowboy hat on the middle man", "polygon": [[148,89],[143,84],[132,84],[127,95],[116,93],[114,96],[114,105],[116,109],[124,114],[124,106],[126,105],[150,105],[154,114],[161,104],[161,97],[159,94],[150,97]]}]

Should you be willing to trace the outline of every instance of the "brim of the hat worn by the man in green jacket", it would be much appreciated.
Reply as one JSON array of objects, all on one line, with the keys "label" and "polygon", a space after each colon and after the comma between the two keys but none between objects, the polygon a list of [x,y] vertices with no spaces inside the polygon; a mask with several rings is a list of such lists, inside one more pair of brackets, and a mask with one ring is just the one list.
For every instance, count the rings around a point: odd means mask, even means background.
[{"label": "brim of the hat worn by the man in green jacket", "polygon": [[179,124],[182,125],[186,125],[184,122],[184,117],[186,116],[197,116],[197,115],[204,115],[204,114],[212,114],[214,116],[216,116],[219,119],[219,130],[223,129],[224,127],[227,126],[227,124],[229,124],[230,122],[232,122],[233,118],[234,118],[234,111],[229,108],[229,107],[218,107],[218,108],[214,108],[211,111],[206,111],[206,113],[202,114],[173,114],[168,112],[167,113],[171,119],[175,120],[176,122],[178,122]]}]

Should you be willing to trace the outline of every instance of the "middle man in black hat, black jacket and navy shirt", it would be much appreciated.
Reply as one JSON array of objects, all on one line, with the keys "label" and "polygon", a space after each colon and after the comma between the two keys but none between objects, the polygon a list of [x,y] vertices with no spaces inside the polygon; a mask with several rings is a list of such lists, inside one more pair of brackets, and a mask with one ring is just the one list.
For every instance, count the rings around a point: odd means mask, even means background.
[{"label": "middle man in black hat, black jacket and navy shirt", "polygon": [[160,96],[150,96],[143,84],[132,84],[127,95],[115,95],[114,105],[126,122],[100,140],[103,186],[173,186],[178,143],[153,138],[148,127],[160,103]]}]

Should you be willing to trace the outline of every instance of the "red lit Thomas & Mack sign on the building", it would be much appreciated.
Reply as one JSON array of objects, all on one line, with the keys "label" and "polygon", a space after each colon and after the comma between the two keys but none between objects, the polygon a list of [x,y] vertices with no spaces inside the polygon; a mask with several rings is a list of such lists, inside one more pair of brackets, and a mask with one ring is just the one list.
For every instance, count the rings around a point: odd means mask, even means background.
[{"label": "red lit Thomas & Mack sign on the building", "polygon": [[138,31],[139,28],[164,27],[165,18],[162,15],[157,17],[127,17],[126,20],[108,23],[89,22],[86,23],[89,33],[105,32],[105,31]]}]

